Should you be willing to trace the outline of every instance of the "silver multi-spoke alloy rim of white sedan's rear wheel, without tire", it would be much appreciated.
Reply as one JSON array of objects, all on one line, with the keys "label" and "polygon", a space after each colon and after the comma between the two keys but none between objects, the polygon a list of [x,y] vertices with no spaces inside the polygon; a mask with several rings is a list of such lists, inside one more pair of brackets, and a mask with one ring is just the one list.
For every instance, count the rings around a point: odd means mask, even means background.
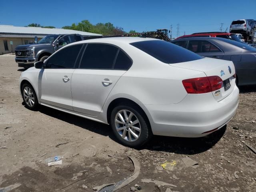
[{"label": "silver multi-spoke alloy rim of white sedan's rear wheel, without tire", "polygon": [[140,121],[129,110],[120,110],[115,117],[115,126],[118,134],[126,141],[136,141],[140,137]]}]

